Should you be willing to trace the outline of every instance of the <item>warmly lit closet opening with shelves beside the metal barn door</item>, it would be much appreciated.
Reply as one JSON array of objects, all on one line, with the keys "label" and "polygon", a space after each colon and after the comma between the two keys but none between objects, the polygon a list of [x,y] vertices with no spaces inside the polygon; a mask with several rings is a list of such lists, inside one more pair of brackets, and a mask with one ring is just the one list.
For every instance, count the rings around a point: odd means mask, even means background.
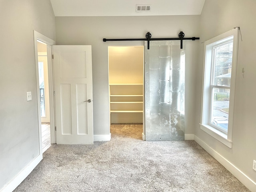
[{"label": "warmly lit closet opening with shelves beside the metal barn door", "polygon": [[[108,46],[110,129],[144,125],[144,46]],[[138,126],[141,125],[141,126]]]}]

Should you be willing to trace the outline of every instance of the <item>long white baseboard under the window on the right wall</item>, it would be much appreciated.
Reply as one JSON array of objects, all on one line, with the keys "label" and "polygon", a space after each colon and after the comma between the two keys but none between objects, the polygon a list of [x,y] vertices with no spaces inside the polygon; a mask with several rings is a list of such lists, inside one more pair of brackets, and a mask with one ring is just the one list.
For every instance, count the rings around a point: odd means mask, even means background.
[{"label": "long white baseboard under the window on the right wall", "polygon": [[208,144],[194,135],[194,140],[206,150],[211,156],[213,156],[220,164],[222,164],[232,175],[234,175],[244,186],[246,186],[250,191],[256,191],[256,183],[250,179],[246,174],[234,166],[231,162],[225,159],[223,156],[218,154],[214,149],[212,149]]}]

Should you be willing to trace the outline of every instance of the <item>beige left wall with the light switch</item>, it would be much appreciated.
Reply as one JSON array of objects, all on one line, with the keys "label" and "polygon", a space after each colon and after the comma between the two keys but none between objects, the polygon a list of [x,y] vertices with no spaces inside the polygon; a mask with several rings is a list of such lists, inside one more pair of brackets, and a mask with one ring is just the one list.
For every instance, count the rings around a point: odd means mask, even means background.
[{"label": "beige left wall with the light switch", "polygon": [[0,29],[1,190],[39,154],[33,30],[55,39],[50,0],[1,0]]}]

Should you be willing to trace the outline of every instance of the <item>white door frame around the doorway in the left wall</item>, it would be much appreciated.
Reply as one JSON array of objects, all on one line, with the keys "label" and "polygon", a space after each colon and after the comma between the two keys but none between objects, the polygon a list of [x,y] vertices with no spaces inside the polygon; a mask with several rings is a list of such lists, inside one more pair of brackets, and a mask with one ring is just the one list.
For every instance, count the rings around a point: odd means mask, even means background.
[{"label": "white door frame around the doorway in the left wall", "polygon": [[41,112],[40,112],[40,92],[39,92],[39,74],[38,74],[38,50],[37,40],[46,43],[47,45],[47,62],[48,62],[48,83],[49,83],[49,102],[50,102],[50,134],[51,143],[56,143],[55,134],[55,106],[54,106],[54,79],[52,69],[52,46],[55,45],[55,41],[40,34],[34,30],[34,48],[35,48],[35,64],[36,64],[36,99],[38,108],[38,130],[39,130],[39,148],[40,155],[42,156],[42,128],[41,128]]}]

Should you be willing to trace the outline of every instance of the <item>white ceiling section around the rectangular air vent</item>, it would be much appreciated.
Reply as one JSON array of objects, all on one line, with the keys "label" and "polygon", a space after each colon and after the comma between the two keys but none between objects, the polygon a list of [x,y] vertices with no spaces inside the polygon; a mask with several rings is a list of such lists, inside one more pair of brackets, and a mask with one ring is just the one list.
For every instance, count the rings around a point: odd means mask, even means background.
[{"label": "white ceiling section around the rectangular air vent", "polygon": [[[51,0],[55,16],[200,15],[205,0]],[[136,5],[151,5],[136,12]]]}]

